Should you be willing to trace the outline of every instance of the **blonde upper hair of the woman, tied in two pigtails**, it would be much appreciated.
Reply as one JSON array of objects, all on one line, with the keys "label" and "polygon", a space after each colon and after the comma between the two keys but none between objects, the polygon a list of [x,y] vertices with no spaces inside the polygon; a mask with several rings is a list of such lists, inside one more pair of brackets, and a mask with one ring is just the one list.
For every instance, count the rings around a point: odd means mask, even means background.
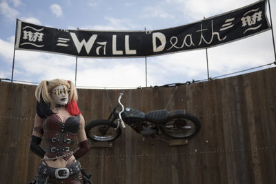
[{"label": "blonde upper hair of the woman, tied in two pigtails", "polygon": [[53,79],[51,81],[41,81],[39,85],[37,86],[37,89],[35,90],[35,98],[37,99],[38,102],[41,102],[41,97],[42,100],[45,103],[51,103],[52,99],[50,97],[50,93],[52,90],[59,86],[63,85],[63,87],[68,90],[70,89],[70,94],[68,96],[68,101],[77,101],[78,96],[77,96],[77,89],[75,88],[74,83],[72,81],[66,81],[64,79]]}]

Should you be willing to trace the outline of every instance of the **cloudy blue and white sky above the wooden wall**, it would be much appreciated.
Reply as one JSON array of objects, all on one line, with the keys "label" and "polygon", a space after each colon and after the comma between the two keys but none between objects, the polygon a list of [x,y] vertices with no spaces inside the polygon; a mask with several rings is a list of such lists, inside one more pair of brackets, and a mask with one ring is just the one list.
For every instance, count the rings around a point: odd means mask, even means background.
[{"label": "cloudy blue and white sky above the wooden wall", "polygon": [[[77,30],[160,30],[213,17],[255,0],[0,0],[0,78],[39,83],[76,80],[77,88],[144,88],[208,79],[206,50],[145,58],[77,59],[63,54],[16,50],[16,20],[52,28]],[[270,0],[276,28],[276,0]],[[270,21],[267,5],[268,21]],[[274,30],[276,37],[276,31]],[[208,48],[211,78],[275,61],[272,32]],[[267,65],[257,70],[275,67]],[[253,72],[249,70],[247,72]],[[242,73],[238,73],[242,74]],[[236,74],[237,75],[237,74]]]}]

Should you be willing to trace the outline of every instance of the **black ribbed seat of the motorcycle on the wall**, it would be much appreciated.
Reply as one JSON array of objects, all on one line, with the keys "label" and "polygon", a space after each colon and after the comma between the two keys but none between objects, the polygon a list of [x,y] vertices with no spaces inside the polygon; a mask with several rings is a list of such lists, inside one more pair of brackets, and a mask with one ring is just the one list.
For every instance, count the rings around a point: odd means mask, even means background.
[{"label": "black ribbed seat of the motorcycle on the wall", "polygon": [[168,119],[168,110],[154,110],[146,113],[146,120],[152,123],[165,123]]}]

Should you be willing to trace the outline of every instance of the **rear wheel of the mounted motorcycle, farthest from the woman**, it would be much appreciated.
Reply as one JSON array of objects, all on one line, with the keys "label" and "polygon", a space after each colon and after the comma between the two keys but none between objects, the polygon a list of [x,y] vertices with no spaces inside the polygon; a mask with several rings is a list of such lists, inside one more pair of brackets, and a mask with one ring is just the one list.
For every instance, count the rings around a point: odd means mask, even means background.
[{"label": "rear wheel of the mounted motorcycle, farthest from the woman", "polygon": [[160,127],[161,132],[172,139],[188,139],[198,134],[201,128],[199,119],[184,110],[170,112],[168,121]]}]

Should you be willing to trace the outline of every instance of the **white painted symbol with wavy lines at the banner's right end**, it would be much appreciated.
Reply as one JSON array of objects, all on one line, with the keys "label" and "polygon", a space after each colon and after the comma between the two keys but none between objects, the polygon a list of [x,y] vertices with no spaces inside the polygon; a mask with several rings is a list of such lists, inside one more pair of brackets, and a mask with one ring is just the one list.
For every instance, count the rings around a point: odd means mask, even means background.
[{"label": "white painted symbol with wavy lines at the banner's right end", "polygon": [[[262,21],[262,11],[259,11],[259,8],[255,9],[255,10],[250,10],[248,12],[246,12],[244,14],[244,16],[246,16],[246,14],[250,13],[250,12],[255,12],[253,15],[247,15],[246,17],[242,17],[241,21],[242,21],[242,27],[246,27],[246,26],[252,26],[255,25],[256,23],[258,23],[259,21]],[[248,28],[244,31],[244,33],[246,33],[248,30],[257,30],[259,27],[261,27],[262,23],[253,27],[253,28]]]}]

